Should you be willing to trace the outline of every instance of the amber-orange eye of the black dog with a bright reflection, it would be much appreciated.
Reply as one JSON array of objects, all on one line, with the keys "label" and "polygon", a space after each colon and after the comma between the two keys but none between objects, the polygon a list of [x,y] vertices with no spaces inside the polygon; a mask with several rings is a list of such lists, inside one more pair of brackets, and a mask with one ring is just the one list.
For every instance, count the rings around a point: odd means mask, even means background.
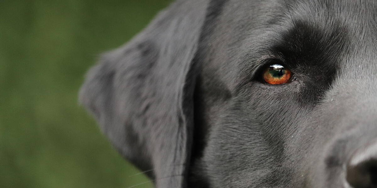
[{"label": "amber-orange eye of the black dog with a bright reflection", "polygon": [[262,76],[266,83],[277,85],[289,82],[292,73],[282,65],[274,64],[266,68]]}]

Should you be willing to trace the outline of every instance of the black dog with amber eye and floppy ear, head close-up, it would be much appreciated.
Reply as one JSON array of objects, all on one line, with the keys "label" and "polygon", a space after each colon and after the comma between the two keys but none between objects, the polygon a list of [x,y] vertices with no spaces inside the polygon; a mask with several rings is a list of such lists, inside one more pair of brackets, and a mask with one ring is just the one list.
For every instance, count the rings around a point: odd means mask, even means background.
[{"label": "black dog with amber eye and floppy ear, head close-up", "polygon": [[80,100],[158,188],[376,188],[377,1],[179,0]]}]

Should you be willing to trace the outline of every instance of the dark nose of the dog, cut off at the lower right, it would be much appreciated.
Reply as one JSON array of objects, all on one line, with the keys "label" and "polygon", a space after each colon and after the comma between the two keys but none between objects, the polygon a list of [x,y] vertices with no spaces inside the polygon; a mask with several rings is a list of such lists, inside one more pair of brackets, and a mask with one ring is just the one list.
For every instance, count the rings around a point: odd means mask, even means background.
[{"label": "dark nose of the dog, cut off at the lower right", "polygon": [[377,142],[358,149],[346,170],[346,180],[353,188],[377,188]]}]

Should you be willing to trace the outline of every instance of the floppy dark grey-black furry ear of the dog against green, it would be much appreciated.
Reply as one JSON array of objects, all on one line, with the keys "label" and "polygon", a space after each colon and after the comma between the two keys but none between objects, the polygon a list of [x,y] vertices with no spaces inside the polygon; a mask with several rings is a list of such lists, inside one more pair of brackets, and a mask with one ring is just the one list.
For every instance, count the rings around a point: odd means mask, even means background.
[{"label": "floppy dark grey-black furry ear of the dog against green", "polygon": [[181,0],[87,74],[80,102],[113,146],[158,188],[185,187],[195,68],[207,0]]}]

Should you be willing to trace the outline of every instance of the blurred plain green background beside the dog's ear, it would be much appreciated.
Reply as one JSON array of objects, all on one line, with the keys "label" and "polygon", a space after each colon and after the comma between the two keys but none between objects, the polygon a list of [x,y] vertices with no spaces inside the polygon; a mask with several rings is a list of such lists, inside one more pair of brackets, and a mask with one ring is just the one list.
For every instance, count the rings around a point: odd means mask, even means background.
[{"label": "blurred plain green background beside the dog's ear", "polygon": [[0,1],[0,187],[150,188],[78,105],[98,54],[170,0]]}]

